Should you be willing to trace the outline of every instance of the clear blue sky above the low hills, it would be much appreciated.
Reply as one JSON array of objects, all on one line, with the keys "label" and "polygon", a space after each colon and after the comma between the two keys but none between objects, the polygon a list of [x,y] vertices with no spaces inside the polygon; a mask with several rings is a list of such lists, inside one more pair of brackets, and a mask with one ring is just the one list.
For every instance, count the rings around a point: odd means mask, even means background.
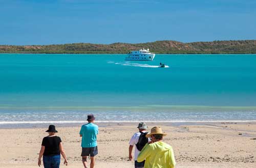
[{"label": "clear blue sky above the low hills", "polygon": [[255,0],[0,0],[0,44],[256,39]]}]

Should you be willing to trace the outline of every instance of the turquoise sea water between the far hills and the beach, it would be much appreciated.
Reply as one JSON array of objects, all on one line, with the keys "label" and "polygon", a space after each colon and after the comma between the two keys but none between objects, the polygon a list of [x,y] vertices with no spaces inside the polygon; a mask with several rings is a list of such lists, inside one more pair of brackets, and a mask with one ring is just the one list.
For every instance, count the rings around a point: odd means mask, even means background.
[{"label": "turquoise sea water between the far hills and the beach", "polygon": [[[144,113],[151,113],[148,121],[156,114],[164,114],[162,121],[256,120],[256,55],[157,54],[153,62],[124,57],[0,54],[0,123],[42,116],[79,121],[88,113],[102,121],[136,121]],[[169,68],[157,68],[160,62]]]}]

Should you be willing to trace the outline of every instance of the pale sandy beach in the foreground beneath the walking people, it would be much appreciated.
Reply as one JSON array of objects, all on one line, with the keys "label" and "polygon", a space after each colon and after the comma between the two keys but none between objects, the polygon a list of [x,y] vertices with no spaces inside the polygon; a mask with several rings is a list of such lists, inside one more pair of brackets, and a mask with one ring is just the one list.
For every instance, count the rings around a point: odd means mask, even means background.
[{"label": "pale sandy beach in the foreground beneath the walking people", "polygon": [[[174,149],[176,167],[256,167],[256,123],[147,124],[149,128],[161,126],[168,133],[164,142]],[[128,159],[128,144],[137,131],[137,123],[98,125],[96,167],[134,167]],[[68,156],[68,167],[82,167],[80,127],[56,127]],[[37,167],[46,129],[0,129],[1,167]]]}]

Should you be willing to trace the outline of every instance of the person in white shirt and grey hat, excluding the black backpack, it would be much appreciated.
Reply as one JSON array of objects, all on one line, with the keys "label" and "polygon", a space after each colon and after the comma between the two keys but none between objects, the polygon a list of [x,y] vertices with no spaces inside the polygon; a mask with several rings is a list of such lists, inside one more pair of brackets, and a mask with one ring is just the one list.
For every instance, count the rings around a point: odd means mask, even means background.
[{"label": "person in white shirt and grey hat, excluding the black backpack", "polygon": [[134,151],[134,161],[135,161],[135,168],[143,168],[144,167],[144,161],[143,162],[137,162],[137,157],[140,153],[140,151],[137,149],[136,144],[139,142],[139,137],[141,135],[141,133],[145,133],[147,126],[146,123],[139,123],[138,127],[139,132],[135,133],[132,138],[131,141],[129,143],[129,159],[133,160],[133,155],[132,155],[132,151],[133,151],[133,147],[135,146],[135,151]]}]

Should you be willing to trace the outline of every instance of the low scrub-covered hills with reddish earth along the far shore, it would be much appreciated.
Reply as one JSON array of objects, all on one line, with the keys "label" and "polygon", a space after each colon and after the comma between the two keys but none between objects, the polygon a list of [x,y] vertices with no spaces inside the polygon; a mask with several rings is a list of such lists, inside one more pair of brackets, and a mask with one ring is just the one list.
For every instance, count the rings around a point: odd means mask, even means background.
[{"label": "low scrub-covered hills with reddish earth along the far shore", "polygon": [[192,43],[165,40],[138,44],[0,45],[0,53],[127,53],[140,48],[150,48],[155,53],[256,53],[256,40]]}]

